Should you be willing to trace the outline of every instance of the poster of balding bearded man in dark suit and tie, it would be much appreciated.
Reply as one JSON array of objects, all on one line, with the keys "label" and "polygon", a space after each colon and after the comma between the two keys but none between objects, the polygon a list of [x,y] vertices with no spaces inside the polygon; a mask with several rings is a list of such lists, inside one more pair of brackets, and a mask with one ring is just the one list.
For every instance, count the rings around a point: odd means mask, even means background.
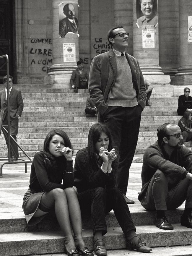
[{"label": "poster of balding bearded man in dark suit and tie", "polygon": [[68,1],[59,4],[59,36],[65,37],[67,33],[79,36],[78,5]]}]

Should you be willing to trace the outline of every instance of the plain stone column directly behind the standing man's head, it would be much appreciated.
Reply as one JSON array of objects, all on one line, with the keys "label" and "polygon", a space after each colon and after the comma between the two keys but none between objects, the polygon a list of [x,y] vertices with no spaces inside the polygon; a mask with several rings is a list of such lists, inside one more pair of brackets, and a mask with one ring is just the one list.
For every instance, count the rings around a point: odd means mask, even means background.
[{"label": "plain stone column directly behind the standing man's head", "polygon": [[115,25],[122,25],[129,33],[128,54],[133,55],[133,1],[114,0]]}]

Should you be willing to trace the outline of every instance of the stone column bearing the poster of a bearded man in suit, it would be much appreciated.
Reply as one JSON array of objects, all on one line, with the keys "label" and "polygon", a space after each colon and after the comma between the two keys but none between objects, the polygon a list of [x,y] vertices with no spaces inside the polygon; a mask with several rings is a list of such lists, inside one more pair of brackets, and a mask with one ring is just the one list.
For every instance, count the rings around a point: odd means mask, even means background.
[{"label": "stone column bearing the poster of a bearded man in suit", "polygon": [[[65,18],[63,14],[63,7],[65,4],[72,4],[74,6],[75,18],[78,20],[78,0],[61,1],[52,0],[52,17],[53,17],[53,65],[50,67],[48,76],[45,77],[47,84],[62,84],[63,88],[71,88],[70,78],[72,71],[77,68],[77,61],[79,60],[79,35],[75,33],[67,33],[64,37],[59,36],[59,20]],[[78,32],[77,32],[78,33]],[[64,62],[64,46],[63,44],[75,44],[76,58],[73,62],[65,60]],[[69,51],[68,51],[69,49]],[[74,54],[72,48],[67,48],[67,51]],[[68,53],[67,53],[68,54]]]}]

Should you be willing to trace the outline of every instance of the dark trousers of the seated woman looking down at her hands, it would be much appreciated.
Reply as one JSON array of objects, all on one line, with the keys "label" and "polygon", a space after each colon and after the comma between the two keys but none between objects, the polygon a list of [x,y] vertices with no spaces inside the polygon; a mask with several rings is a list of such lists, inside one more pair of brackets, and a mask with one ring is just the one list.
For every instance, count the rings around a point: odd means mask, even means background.
[{"label": "dark trousers of the seated woman looking down at her hands", "polygon": [[136,231],[128,205],[120,189],[113,187],[106,191],[102,187],[97,187],[78,193],[77,197],[82,215],[84,213],[91,214],[93,234],[96,231],[102,231],[103,235],[107,233],[105,214],[112,209],[125,235],[130,230]]}]

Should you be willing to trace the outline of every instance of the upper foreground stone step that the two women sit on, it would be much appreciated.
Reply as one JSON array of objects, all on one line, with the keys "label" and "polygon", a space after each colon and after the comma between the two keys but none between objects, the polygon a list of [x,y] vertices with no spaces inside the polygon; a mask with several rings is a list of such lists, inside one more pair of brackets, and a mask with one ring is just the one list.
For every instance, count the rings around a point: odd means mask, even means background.
[{"label": "upper foreground stone step that the two women sit on", "polygon": [[[135,205],[129,206],[131,212],[131,217],[134,221],[135,226],[141,225],[154,225],[156,213],[155,211],[146,211],[139,202]],[[184,205],[174,211],[167,211],[166,217],[170,223],[180,223],[180,216],[183,214]],[[50,220],[52,220],[51,224]],[[118,221],[115,218],[113,211],[106,215],[106,222],[108,227],[119,226]],[[91,218],[89,216],[83,216],[82,218],[83,228],[91,228]],[[22,232],[22,231],[48,231],[48,230],[59,230],[60,227],[56,221],[55,216],[51,214],[45,217],[38,225],[32,227],[27,226],[25,221],[25,215],[23,211],[21,212],[5,212],[0,213],[0,233],[10,233],[10,232]]]}]

